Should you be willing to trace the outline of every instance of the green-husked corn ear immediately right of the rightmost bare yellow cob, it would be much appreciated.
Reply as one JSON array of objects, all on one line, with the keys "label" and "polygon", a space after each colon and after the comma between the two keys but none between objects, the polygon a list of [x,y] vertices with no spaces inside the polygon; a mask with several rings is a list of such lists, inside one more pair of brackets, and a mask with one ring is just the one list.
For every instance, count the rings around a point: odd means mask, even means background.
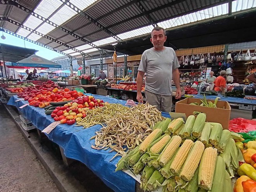
[{"label": "green-husked corn ear immediately right of the rightmost bare yellow cob", "polygon": [[221,156],[217,157],[216,166],[213,176],[213,185],[211,187],[211,192],[221,192],[224,188],[225,180],[225,162]]}]

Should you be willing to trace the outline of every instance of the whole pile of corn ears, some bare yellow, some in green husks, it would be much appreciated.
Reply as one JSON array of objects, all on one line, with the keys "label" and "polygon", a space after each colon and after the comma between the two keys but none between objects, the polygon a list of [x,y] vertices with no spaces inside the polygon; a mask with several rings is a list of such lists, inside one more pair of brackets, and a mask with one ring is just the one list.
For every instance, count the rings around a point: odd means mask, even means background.
[{"label": "whole pile of corn ears, some bare yellow, some in green husks", "polygon": [[244,161],[232,137],[219,123],[206,123],[206,115],[165,119],[152,133],[121,158],[116,171],[141,174],[140,187],[163,192],[232,192],[231,178]]}]

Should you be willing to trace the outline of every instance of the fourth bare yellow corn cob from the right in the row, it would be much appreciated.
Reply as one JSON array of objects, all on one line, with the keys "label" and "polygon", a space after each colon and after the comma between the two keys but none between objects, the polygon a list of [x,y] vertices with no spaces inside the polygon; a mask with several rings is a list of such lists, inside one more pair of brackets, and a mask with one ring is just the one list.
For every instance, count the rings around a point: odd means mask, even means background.
[{"label": "fourth bare yellow corn cob from the right in the row", "polygon": [[157,158],[160,166],[165,166],[166,163],[171,159],[175,151],[178,149],[182,142],[182,138],[175,135],[171,138],[170,142],[166,145],[163,152],[161,152],[160,156]]}]

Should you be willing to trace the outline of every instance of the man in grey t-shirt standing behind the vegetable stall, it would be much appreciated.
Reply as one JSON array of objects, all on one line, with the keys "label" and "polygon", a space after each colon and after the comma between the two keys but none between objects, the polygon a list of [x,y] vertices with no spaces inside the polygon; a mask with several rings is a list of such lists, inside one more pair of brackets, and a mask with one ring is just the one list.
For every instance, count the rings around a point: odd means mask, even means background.
[{"label": "man in grey t-shirt standing behind the vegetable stall", "polygon": [[137,100],[143,102],[141,93],[144,73],[146,102],[157,106],[158,110],[171,111],[172,90],[171,80],[176,86],[176,99],[181,97],[180,67],[175,51],[171,47],[164,47],[167,36],[161,27],[155,27],[151,32],[150,41],[154,47],[145,50],[140,60],[137,74]]}]

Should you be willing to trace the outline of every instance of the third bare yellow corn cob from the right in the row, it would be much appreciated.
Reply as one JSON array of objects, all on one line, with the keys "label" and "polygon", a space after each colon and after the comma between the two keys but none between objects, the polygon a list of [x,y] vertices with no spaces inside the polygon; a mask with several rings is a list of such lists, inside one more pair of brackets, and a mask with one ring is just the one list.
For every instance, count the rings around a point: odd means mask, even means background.
[{"label": "third bare yellow corn cob from the right in the row", "polygon": [[180,173],[183,163],[185,162],[187,156],[189,155],[190,149],[193,147],[194,142],[192,140],[185,140],[185,142],[180,147],[179,152],[175,156],[173,163],[171,163],[171,172],[175,175]]}]

